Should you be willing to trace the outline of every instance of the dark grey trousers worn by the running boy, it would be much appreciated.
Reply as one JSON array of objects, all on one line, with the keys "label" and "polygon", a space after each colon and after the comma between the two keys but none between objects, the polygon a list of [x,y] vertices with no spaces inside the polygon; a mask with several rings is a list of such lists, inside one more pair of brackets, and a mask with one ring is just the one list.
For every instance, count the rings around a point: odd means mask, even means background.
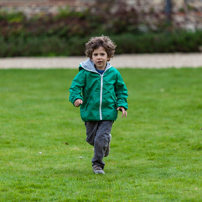
[{"label": "dark grey trousers worn by the running boy", "polygon": [[86,141],[94,146],[92,166],[99,165],[104,169],[103,158],[110,142],[110,133],[114,121],[86,121]]}]

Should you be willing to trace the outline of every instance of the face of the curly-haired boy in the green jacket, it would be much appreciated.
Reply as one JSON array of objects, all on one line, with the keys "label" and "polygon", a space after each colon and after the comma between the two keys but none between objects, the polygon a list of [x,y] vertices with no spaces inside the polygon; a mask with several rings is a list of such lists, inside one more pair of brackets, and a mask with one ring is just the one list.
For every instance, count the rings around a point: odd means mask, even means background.
[{"label": "face of the curly-haired boy in the green jacket", "polygon": [[104,70],[106,65],[107,65],[107,61],[110,58],[107,55],[107,52],[105,51],[105,49],[100,46],[99,48],[95,49],[92,53],[92,58],[91,60],[94,62],[95,67],[99,70]]}]

